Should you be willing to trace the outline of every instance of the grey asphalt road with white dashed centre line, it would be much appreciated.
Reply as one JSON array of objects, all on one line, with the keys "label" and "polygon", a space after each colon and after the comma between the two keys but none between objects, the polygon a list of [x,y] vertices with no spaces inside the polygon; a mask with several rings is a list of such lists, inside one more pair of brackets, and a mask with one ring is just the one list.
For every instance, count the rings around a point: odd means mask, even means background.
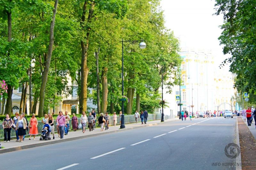
[{"label": "grey asphalt road with white dashed centre line", "polygon": [[235,130],[236,118],[166,122],[0,154],[0,169],[235,169],[222,164],[236,161],[224,153]]}]

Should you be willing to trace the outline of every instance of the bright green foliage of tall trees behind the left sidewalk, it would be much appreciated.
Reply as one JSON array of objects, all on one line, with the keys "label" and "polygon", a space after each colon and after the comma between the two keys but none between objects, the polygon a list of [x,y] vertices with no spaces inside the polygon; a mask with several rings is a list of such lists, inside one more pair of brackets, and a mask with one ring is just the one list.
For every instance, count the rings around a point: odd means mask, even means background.
[{"label": "bright green foliage of tall trees behind the left sidewalk", "polygon": [[[181,63],[179,41],[164,26],[163,11],[159,0],[84,0],[60,1],[54,27],[54,46],[48,80],[45,89],[44,110],[69,96],[72,86],[80,93],[81,41],[86,42],[88,30],[89,48],[87,85],[96,89],[95,52],[100,48],[99,70],[108,68],[108,111],[121,110],[121,57],[122,39],[141,40],[147,44],[124,43],[124,95],[128,88],[135,90],[132,112],[135,111],[136,93],[139,93],[141,109],[154,112],[159,108],[161,69],[164,82],[172,91],[177,84],[173,67]],[[87,22],[90,3],[95,3],[92,19]],[[28,81],[27,70],[32,65],[32,96],[39,97],[42,74],[45,68],[49,44],[49,28],[54,1],[50,0],[0,0],[0,80],[18,88]],[[12,11],[12,41],[7,42],[7,16]],[[81,22],[83,12],[85,21]],[[170,81],[170,78],[172,81]],[[72,84],[70,84],[70,81]],[[88,93],[96,104],[96,93]],[[39,99],[40,100],[40,99]],[[130,99],[131,100],[131,99]],[[125,102],[125,106],[128,102]],[[125,107],[126,108],[126,107]],[[126,113],[126,112],[125,112]]]}]

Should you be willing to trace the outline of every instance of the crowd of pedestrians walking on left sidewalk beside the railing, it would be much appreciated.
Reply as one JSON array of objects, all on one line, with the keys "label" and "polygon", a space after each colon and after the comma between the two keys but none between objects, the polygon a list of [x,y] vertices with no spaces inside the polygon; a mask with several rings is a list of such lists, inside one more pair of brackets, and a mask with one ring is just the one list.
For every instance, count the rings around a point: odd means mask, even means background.
[{"label": "crowd of pedestrians walking on left sidewalk beside the railing", "polygon": [[[58,132],[58,137],[60,139],[63,139],[64,135],[68,135],[68,130],[70,128],[69,126],[69,120],[70,120],[70,115],[68,115],[68,112],[65,112],[65,115],[63,115],[62,111],[59,111],[59,114],[54,120],[53,115],[54,113],[50,114],[45,114],[43,119],[41,120],[42,124],[46,125],[48,124],[49,126],[44,126],[42,129],[42,132],[45,133],[50,133],[52,134],[52,139],[55,139],[55,134],[54,130],[56,128]],[[122,117],[122,111],[119,112],[119,118],[120,118],[120,123],[121,123],[121,117]],[[145,110],[144,112],[141,111],[140,114],[136,110],[135,114],[135,122],[138,122],[138,118],[140,117],[141,119],[141,124],[147,124],[148,120],[148,112]],[[95,126],[96,122],[98,121],[100,130],[103,131],[104,125],[107,126],[109,129],[109,120],[110,116],[108,115],[108,112],[105,113],[100,113],[100,116],[97,120],[96,113],[94,110],[86,115],[85,112],[82,113],[79,119],[76,117],[76,114],[72,114],[71,118],[71,124],[72,124],[72,129],[73,131],[76,131],[77,129],[82,129],[82,132],[85,132],[86,129],[86,124],[88,125],[89,131],[93,130],[93,125]],[[55,122],[54,122],[55,121]],[[116,126],[117,123],[117,115],[116,112],[113,114],[113,123],[114,126]],[[25,139],[25,135],[29,135],[29,140],[31,140],[33,136],[33,140],[35,140],[35,137],[38,135],[38,120],[36,118],[35,114],[32,114],[31,119],[27,120],[25,117],[25,114],[19,114],[18,112],[15,113],[15,116],[13,119],[9,114],[6,114],[6,118],[4,119],[2,123],[3,129],[4,129],[4,142],[10,142],[11,140],[11,129],[13,128],[16,133],[16,142],[23,142]],[[49,127],[49,128],[48,128]]]}]

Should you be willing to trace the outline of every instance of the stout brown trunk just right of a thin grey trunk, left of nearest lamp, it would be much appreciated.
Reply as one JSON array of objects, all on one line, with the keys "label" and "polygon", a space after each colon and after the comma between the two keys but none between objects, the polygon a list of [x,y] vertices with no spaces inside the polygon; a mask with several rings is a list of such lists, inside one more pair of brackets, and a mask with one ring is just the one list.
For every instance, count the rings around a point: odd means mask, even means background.
[{"label": "stout brown trunk just right of a thin grey trunk, left of nearest lamp", "polygon": [[108,68],[103,67],[101,74],[101,85],[102,85],[102,96],[101,96],[101,113],[107,112],[108,106],[108,78],[107,78]]}]

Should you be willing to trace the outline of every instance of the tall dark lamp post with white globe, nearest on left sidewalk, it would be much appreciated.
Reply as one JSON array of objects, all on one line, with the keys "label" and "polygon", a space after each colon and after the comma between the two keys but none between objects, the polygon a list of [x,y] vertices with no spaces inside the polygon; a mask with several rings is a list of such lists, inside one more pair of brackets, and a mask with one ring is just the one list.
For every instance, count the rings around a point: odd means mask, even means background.
[{"label": "tall dark lamp post with white globe, nearest on left sidewalk", "polygon": [[[124,96],[124,42],[140,42],[140,48],[146,48],[146,43],[142,40],[134,40],[134,41],[124,41],[122,39],[122,96]],[[124,129],[124,100],[122,100],[122,115],[121,115],[121,126],[120,129]]]}]

